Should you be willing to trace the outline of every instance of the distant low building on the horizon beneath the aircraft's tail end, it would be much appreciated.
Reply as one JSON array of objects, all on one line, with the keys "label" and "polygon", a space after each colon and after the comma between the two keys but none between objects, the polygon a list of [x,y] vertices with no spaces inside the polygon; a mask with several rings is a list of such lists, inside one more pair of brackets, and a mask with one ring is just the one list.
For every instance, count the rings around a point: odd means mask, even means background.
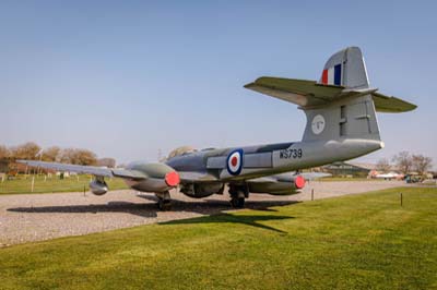
[{"label": "distant low building on the horizon beneath the aircraft's tail end", "polygon": [[363,162],[333,162],[322,167],[322,171],[333,177],[359,177],[367,178],[375,165]]}]

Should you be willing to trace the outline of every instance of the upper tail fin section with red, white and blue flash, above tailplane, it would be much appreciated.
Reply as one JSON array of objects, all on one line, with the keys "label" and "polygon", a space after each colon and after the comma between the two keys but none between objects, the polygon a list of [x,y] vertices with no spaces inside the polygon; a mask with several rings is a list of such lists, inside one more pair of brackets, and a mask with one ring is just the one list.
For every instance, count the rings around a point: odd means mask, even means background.
[{"label": "upper tail fin section with red, white and blue flash, above tailplane", "polygon": [[320,83],[347,88],[368,88],[366,64],[357,47],[349,47],[334,53],[324,64]]}]

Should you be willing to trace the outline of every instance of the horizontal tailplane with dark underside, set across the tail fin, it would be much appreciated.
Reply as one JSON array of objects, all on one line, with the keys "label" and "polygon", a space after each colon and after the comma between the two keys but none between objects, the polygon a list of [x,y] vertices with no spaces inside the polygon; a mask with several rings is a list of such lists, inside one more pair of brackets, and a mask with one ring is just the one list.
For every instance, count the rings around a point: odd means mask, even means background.
[{"label": "horizontal tailplane with dark underside, set across the tail fin", "polygon": [[245,87],[300,107],[320,106],[332,100],[367,94],[371,94],[375,108],[380,112],[405,112],[417,107],[405,100],[376,93],[377,88],[351,89],[306,80],[262,76]]}]

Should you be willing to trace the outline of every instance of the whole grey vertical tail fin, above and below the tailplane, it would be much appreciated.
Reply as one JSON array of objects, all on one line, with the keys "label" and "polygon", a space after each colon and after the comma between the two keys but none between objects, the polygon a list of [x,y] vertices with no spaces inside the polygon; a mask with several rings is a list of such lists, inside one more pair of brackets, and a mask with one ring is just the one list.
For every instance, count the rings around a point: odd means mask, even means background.
[{"label": "whole grey vertical tail fin, above and below the tailplane", "polygon": [[[345,48],[329,58],[320,80],[323,85],[351,90],[369,88],[366,64],[357,47]],[[340,98],[328,106],[304,108],[307,125],[304,141],[363,138],[380,141],[371,94]]]}]

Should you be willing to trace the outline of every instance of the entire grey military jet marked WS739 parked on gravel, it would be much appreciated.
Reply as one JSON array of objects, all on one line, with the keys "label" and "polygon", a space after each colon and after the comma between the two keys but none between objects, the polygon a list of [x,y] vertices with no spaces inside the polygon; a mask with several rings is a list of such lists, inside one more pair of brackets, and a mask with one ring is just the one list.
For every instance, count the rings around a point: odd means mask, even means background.
[{"label": "entire grey military jet marked WS739 parked on gravel", "polygon": [[33,167],[93,174],[94,194],[108,191],[105,178],[122,178],[130,188],[155,193],[158,206],[170,205],[172,189],[190,197],[223,194],[244,207],[250,194],[288,195],[311,174],[299,170],[353,159],[382,148],[376,112],[405,112],[415,105],[378,93],[369,85],[362,51],[349,47],[334,53],[320,80],[263,76],[245,85],[298,106],[307,123],[300,142],[191,150],[163,162],[133,162],[126,169],[21,160]]}]

